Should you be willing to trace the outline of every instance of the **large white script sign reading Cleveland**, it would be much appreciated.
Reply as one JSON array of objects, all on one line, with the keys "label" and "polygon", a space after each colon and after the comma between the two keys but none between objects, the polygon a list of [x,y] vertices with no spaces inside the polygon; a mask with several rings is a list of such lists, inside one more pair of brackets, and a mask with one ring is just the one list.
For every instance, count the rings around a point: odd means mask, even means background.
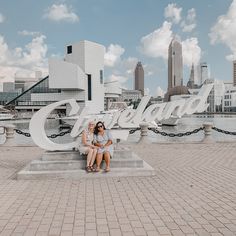
[{"label": "large white script sign reading Cleveland", "polygon": [[[127,129],[137,128],[142,122],[160,122],[171,118],[171,116],[180,118],[183,115],[203,112],[208,107],[206,101],[212,87],[212,84],[203,85],[198,95],[191,96],[188,99],[179,99],[160,104],[153,104],[147,109],[145,108],[150,97],[144,96],[137,109],[117,111],[114,112],[112,116],[105,115],[103,120],[105,121],[106,127],[109,129],[111,129],[115,124],[118,124],[121,129]],[[68,99],[43,107],[33,115],[29,126],[30,134],[35,144],[39,147],[54,151],[72,149],[78,145],[76,141],[63,144],[54,143],[47,137],[45,132],[45,122],[49,114],[57,107],[65,104],[70,104],[71,106],[69,116],[75,116],[78,113],[80,107],[76,103],[75,99]],[[70,133],[72,138],[76,138],[82,132],[89,120],[95,118],[94,116],[90,116],[90,118],[88,117],[88,109],[85,107],[80,115],[76,116],[75,125]]]}]

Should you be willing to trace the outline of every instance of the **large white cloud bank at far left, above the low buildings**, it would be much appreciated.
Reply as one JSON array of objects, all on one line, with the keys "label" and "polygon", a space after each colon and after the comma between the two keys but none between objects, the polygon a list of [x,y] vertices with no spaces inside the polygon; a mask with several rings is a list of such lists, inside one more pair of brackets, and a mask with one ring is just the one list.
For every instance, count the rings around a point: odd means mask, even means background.
[{"label": "large white cloud bank at far left, above the low buildings", "polygon": [[40,35],[32,39],[24,48],[10,49],[0,35],[0,77],[4,81],[13,81],[16,74],[34,77],[35,71],[47,73],[46,37]]}]

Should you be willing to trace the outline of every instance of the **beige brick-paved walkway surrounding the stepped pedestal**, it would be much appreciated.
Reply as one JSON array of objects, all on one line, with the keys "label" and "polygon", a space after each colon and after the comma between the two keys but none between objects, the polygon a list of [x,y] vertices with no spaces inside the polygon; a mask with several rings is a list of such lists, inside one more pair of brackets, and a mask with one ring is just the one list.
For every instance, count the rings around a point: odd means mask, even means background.
[{"label": "beige brick-paved walkway surrounding the stepped pedestal", "polygon": [[236,143],[131,146],[154,177],[17,181],[0,146],[0,235],[236,235]]}]

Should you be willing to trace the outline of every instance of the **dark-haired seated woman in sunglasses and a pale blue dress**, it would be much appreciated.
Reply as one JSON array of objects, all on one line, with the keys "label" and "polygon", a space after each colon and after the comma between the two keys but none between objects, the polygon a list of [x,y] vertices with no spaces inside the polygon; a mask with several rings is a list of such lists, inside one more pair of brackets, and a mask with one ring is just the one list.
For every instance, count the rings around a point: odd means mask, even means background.
[{"label": "dark-haired seated woman in sunglasses and a pale blue dress", "polygon": [[97,151],[97,168],[96,171],[100,171],[100,166],[102,159],[104,157],[106,162],[106,169],[105,171],[110,171],[110,158],[113,154],[113,146],[112,146],[112,136],[111,133],[106,130],[104,124],[99,121],[94,129],[94,145],[98,147]]}]

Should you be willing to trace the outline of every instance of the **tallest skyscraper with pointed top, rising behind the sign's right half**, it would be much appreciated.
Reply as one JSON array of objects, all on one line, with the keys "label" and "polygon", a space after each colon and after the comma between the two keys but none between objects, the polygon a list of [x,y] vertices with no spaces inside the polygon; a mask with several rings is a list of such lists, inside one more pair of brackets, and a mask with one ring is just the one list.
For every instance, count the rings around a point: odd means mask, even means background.
[{"label": "tallest skyscraper with pointed top, rising behind the sign's right half", "polygon": [[183,85],[182,45],[173,38],[168,51],[168,90]]}]

